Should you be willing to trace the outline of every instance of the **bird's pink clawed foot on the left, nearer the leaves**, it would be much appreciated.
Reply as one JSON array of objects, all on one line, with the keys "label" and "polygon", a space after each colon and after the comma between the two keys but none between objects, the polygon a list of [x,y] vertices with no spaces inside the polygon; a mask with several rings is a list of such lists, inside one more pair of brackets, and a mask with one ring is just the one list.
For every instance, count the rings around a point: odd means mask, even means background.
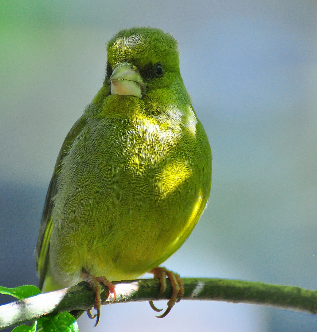
[{"label": "bird's pink clawed foot on the left, nearer the leaves", "polygon": [[111,303],[113,303],[116,300],[116,297],[117,297],[117,294],[116,294],[116,291],[115,291],[115,285],[110,283],[110,281],[108,281],[105,277],[95,277],[95,276],[92,276],[91,274],[89,274],[87,272],[84,272],[81,277],[82,277],[83,281],[86,281],[86,283],[89,284],[89,286],[93,289],[93,291],[95,293],[94,309],[97,310],[97,313],[95,315],[92,315],[92,313],[91,313],[92,308],[90,308],[90,309],[87,310],[87,315],[91,319],[94,319],[94,318],[97,317],[96,323],[95,323],[95,327],[96,327],[98,325],[99,319],[100,319],[101,284],[107,286],[109,288],[109,293],[113,294]]}]

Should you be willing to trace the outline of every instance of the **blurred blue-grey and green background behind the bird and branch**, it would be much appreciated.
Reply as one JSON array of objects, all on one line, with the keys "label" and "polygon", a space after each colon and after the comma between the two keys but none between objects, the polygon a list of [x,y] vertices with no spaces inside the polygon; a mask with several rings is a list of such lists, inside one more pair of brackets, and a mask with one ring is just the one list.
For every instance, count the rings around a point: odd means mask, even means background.
[{"label": "blurred blue-grey and green background behind the bird and branch", "polygon": [[[316,290],[315,0],[1,1],[0,285],[37,285],[33,251],[58,151],[102,85],[106,42],[135,25],[179,41],[213,150],[208,208],[165,266]],[[224,302],[154,315],[148,303],[104,306],[94,331],[317,329],[312,315]],[[93,325],[79,320],[82,332]]]}]

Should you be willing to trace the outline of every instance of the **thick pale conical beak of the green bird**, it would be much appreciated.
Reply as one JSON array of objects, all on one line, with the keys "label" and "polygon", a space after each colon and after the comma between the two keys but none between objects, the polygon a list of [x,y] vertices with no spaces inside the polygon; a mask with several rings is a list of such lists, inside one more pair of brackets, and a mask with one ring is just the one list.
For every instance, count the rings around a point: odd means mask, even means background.
[{"label": "thick pale conical beak of the green bird", "polygon": [[112,95],[131,95],[141,98],[142,78],[128,62],[117,64],[110,76]]}]

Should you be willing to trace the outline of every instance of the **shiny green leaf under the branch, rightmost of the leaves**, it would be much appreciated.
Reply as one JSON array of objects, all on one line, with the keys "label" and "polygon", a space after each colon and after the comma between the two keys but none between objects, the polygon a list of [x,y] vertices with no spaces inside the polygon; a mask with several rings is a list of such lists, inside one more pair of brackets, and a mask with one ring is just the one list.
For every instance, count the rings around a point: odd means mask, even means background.
[{"label": "shiny green leaf under the branch, rightmost of the leaves", "polygon": [[79,332],[76,319],[67,311],[43,322],[43,332]]}]

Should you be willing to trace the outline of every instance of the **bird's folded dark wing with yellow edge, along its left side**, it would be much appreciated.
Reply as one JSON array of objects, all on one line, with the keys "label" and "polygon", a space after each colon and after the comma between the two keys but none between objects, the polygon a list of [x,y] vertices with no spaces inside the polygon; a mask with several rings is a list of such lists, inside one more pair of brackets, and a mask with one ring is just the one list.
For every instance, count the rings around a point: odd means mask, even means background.
[{"label": "bird's folded dark wing with yellow edge, along its left side", "polygon": [[51,237],[51,232],[53,229],[53,221],[51,218],[51,213],[53,209],[53,198],[57,193],[57,176],[62,167],[62,160],[67,155],[70,150],[74,139],[81,132],[83,127],[86,125],[87,119],[86,116],[83,115],[71,128],[69,133],[67,134],[63,145],[59,151],[56,164],[54,167],[53,175],[51,178],[51,182],[49,183],[40,229],[37,237],[37,244],[35,248],[35,259],[36,259],[36,271],[39,274],[39,288],[42,289],[44,278],[48,266],[48,253],[49,253],[49,242]]}]

